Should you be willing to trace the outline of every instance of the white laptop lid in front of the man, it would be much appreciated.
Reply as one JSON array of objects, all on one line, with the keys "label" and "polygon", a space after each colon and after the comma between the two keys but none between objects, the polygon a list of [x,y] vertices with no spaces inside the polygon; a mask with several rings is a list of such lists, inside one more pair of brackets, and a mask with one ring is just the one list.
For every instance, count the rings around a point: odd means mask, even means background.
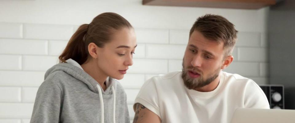
[{"label": "white laptop lid in front of the man", "polygon": [[295,110],[237,109],[231,123],[295,123]]}]

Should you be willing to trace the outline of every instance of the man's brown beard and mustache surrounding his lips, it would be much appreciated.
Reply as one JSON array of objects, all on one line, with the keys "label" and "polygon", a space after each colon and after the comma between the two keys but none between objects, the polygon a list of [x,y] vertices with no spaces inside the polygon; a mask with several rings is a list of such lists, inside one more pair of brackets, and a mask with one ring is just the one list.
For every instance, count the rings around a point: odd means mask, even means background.
[{"label": "man's brown beard and mustache surrounding his lips", "polygon": [[[187,72],[189,70],[192,71],[197,71],[200,76],[198,78],[191,78]],[[204,80],[203,78],[203,73],[199,70],[194,68],[193,66],[189,66],[187,68],[184,68],[184,60],[182,61],[182,74],[181,77],[183,79],[184,85],[188,88],[188,89],[197,89],[197,88],[201,88],[204,87],[206,85],[209,85],[213,80],[215,80],[220,72],[221,68],[218,68],[216,70],[214,70],[214,72],[212,74],[210,74],[210,76]]]}]

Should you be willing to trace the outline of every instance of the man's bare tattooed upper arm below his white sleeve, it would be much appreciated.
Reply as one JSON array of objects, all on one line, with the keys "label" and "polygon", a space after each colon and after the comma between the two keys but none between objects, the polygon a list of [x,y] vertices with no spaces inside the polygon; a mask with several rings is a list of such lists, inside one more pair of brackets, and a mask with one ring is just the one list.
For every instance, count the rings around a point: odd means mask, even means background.
[{"label": "man's bare tattooed upper arm below his white sleeve", "polygon": [[161,123],[161,118],[140,103],[136,103],[133,123]]}]

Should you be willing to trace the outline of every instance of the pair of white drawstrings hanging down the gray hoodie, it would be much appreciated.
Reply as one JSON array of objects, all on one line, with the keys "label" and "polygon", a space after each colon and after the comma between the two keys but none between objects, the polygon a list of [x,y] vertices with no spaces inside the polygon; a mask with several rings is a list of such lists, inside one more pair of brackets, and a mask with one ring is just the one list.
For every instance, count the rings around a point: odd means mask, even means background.
[{"label": "pair of white drawstrings hanging down the gray hoodie", "polygon": [[[100,109],[101,109],[101,118],[100,122],[104,123],[104,99],[102,98],[102,92],[99,85],[96,85],[98,92],[99,92],[99,100],[100,100]],[[113,93],[113,123],[116,123],[116,92],[114,86],[112,88]]]}]

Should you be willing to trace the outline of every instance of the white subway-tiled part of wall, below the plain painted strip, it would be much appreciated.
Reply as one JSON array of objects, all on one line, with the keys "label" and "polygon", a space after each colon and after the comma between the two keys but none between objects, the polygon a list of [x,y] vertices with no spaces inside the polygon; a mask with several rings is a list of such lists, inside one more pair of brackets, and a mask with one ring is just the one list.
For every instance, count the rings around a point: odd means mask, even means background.
[{"label": "white subway-tiled part of wall, below the plain painted strip", "polygon": [[[0,22],[0,122],[29,123],[36,92],[44,73],[78,25]],[[189,29],[136,28],[138,46],[134,64],[119,80],[128,95],[131,120],[133,102],[149,78],[182,69]],[[268,48],[265,33],[240,31],[234,62],[224,71],[238,73],[258,84],[268,84]]]}]

